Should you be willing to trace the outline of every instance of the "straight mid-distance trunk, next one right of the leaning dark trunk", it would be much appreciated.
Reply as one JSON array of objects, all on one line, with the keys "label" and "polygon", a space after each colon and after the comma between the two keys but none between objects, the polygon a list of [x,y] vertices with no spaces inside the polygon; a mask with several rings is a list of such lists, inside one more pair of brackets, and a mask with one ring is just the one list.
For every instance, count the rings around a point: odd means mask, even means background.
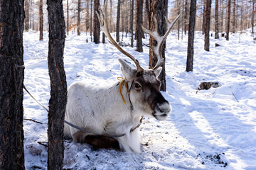
[{"label": "straight mid-distance trunk, next one right of the leaning dark trunk", "polygon": [[206,25],[205,25],[205,46],[206,51],[210,50],[210,8],[211,0],[206,0]]}]

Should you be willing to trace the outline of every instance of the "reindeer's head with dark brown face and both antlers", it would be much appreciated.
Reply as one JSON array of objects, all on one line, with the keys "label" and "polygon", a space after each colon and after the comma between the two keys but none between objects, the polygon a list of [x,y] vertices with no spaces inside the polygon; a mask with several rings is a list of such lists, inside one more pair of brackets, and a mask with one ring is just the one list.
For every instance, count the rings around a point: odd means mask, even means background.
[{"label": "reindeer's head with dark brown face and both antlers", "polygon": [[[129,97],[132,105],[143,115],[153,115],[157,120],[165,120],[169,113],[171,113],[171,106],[160,93],[161,82],[159,81],[158,77],[162,69],[161,65],[164,64],[164,58],[161,56],[161,47],[179,16],[177,16],[173,23],[170,23],[166,19],[167,31],[164,36],[157,33],[157,24],[154,31],[142,27],[144,32],[151,35],[157,42],[155,46],[151,47],[157,57],[157,63],[153,69],[143,69],[135,57],[124,51],[122,47],[119,47],[117,42],[114,41],[107,26],[107,17],[105,17],[107,16],[107,1],[105,1],[104,4],[104,14],[101,8],[99,8],[97,11],[97,16],[100,21],[100,29],[105,33],[108,40],[110,40],[112,45],[117,47],[120,52],[129,57],[137,67],[134,69],[130,67],[127,62],[119,59],[124,79],[125,81],[130,82]],[[156,18],[154,19],[155,23],[157,23]]]}]

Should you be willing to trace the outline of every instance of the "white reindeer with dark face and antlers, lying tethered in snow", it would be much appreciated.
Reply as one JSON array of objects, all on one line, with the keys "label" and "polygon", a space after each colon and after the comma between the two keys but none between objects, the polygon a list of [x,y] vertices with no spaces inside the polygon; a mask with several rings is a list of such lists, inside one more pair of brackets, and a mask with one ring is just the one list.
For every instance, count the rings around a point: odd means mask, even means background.
[{"label": "white reindeer with dark face and antlers, lying tethered in snow", "polygon": [[138,60],[113,40],[107,26],[107,1],[104,4],[104,14],[99,8],[97,16],[101,30],[112,45],[129,57],[135,63],[136,69],[119,59],[124,79],[114,85],[96,88],[82,82],[73,83],[68,89],[65,120],[87,132],[65,124],[64,135],[76,142],[87,142],[96,147],[113,147],[139,153],[141,137],[138,128],[142,118],[149,116],[156,120],[166,120],[171,113],[169,102],[159,91],[161,82],[158,77],[161,65],[164,64],[161,47],[179,16],[173,23],[166,19],[168,30],[164,36],[157,33],[157,26],[154,31],[143,28],[157,42],[156,46],[151,47],[158,59],[153,69],[143,69]]}]

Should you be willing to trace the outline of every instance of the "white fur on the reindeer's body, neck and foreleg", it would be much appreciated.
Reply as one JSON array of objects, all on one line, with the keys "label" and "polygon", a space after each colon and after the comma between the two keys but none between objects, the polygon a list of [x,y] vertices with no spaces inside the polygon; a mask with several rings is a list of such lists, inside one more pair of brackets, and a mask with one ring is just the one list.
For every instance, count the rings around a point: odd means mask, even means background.
[{"label": "white fur on the reindeer's body, neck and foreleg", "polygon": [[[119,60],[121,70],[128,86],[132,85],[132,79],[136,69],[132,69],[124,60]],[[159,74],[159,69],[157,74]],[[141,137],[138,128],[131,132],[131,129],[140,124],[142,115],[151,116],[149,108],[140,106],[136,101],[137,96],[130,94],[133,109],[129,102],[127,88],[123,84],[122,96],[119,94],[119,84],[121,80],[110,87],[97,88],[82,82],[71,84],[68,89],[68,103],[66,106],[65,120],[75,125],[103,135],[122,135],[116,137],[121,149],[126,152],[141,152]],[[158,116],[158,115],[156,115]],[[159,115],[160,116],[160,115]],[[161,117],[161,116],[160,116]],[[65,124],[65,137],[72,137],[78,141],[75,133],[79,130]]]}]

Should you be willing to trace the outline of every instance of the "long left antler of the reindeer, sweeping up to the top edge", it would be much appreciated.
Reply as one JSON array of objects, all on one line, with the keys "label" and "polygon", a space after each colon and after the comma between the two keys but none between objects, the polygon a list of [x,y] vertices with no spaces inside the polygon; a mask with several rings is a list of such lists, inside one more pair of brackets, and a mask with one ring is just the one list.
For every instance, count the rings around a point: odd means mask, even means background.
[{"label": "long left antler of the reindeer, sweeping up to the top edge", "polygon": [[104,3],[104,14],[103,14],[102,9],[100,7],[99,7],[98,11],[96,11],[96,14],[97,14],[97,17],[100,21],[100,30],[102,30],[102,32],[105,33],[105,35],[107,36],[107,39],[110,40],[110,43],[112,45],[114,45],[115,47],[117,47],[117,50],[119,50],[124,55],[129,57],[136,64],[137,72],[142,72],[144,69],[142,69],[142,67],[139,65],[139,61],[136,58],[134,58],[132,55],[130,55],[128,52],[124,51],[122,49],[122,47],[117,45],[117,42],[110,35],[110,30],[107,26],[107,17],[105,17],[105,16],[107,16],[107,0]]}]

